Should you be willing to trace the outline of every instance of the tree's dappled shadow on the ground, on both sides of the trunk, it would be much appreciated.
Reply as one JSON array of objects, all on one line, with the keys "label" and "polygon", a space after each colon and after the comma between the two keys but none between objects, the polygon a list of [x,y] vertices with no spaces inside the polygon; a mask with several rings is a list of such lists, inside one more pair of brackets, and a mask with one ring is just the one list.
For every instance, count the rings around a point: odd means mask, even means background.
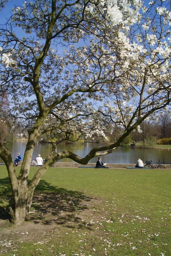
[{"label": "tree's dappled shadow on the ground, on both sides of the trunk", "polygon": [[[0,187],[0,219],[9,219],[8,208],[12,205],[12,194],[8,177],[0,179]],[[91,225],[78,216],[83,211],[86,211],[87,215],[87,204],[91,200],[94,198],[87,197],[80,191],[52,186],[45,180],[41,180],[33,195],[30,220],[35,224],[57,224],[68,228],[91,229]]]}]

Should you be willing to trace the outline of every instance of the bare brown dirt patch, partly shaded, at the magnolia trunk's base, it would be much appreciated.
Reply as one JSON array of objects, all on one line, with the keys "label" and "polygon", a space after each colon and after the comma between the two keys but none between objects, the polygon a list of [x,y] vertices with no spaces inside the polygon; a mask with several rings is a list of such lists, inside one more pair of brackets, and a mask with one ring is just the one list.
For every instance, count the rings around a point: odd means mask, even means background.
[{"label": "bare brown dirt patch, partly shaded, at the magnolia trunk's base", "polygon": [[16,244],[30,241],[33,244],[46,243],[53,233],[61,229],[92,230],[90,218],[96,214],[100,200],[97,197],[86,197],[83,193],[36,193],[33,198],[30,220],[22,225],[13,225],[8,219],[0,219],[0,254],[7,253]]}]

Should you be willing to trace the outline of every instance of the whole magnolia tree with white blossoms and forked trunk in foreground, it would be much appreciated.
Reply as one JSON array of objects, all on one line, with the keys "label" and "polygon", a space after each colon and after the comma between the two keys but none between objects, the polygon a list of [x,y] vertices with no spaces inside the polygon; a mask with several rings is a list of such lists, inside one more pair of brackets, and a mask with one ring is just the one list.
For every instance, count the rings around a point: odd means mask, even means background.
[{"label": "whole magnolia tree with white blossoms and forked trunk in foreground", "polygon": [[[15,6],[1,26],[1,90],[11,114],[28,129],[16,176],[10,151],[0,157],[10,178],[12,222],[29,217],[32,196],[48,168],[62,158],[80,164],[112,152],[152,113],[170,105],[170,26],[168,1],[45,0]],[[58,143],[123,130],[107,146],[81,158],[57,152]],[[28,184],[37,139],[53,137],[52,152]],[[54,142],[55,141],[55,142]]]}]

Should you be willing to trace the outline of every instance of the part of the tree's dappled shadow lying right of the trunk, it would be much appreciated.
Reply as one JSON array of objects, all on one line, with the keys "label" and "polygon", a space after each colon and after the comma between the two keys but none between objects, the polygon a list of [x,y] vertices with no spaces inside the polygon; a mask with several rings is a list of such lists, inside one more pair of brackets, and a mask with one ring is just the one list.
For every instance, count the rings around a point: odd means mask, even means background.
[{"label": "part of the tree's dappled shadow lying right of the trunk", "polygon": [[42,180],[33,196],[31,219],[35,223],[42,219],[45,225],[55,223],[68,228],[75,228],[77,225],[79,228],[86,226],[90,229],[90,225],[83,222],[78,215],[88,210],[87,204],[91,200],[93,197],[87,197],[80,191],[51,186]]}]

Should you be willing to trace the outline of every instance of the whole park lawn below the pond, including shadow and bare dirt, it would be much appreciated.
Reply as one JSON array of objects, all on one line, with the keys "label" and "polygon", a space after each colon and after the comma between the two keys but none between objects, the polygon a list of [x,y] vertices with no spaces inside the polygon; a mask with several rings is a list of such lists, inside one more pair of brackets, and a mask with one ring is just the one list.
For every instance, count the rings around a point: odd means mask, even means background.
[{"label": "whole park lawn below the pond, including shadow and bare dirt", "polygon": [[[30,168],[29,178],[37,169]],[[10,186],[1,166],[0,255],[170,256],[170,174],[50,168],[36,189],[30,221],[13,227],[4,220]]]}]

